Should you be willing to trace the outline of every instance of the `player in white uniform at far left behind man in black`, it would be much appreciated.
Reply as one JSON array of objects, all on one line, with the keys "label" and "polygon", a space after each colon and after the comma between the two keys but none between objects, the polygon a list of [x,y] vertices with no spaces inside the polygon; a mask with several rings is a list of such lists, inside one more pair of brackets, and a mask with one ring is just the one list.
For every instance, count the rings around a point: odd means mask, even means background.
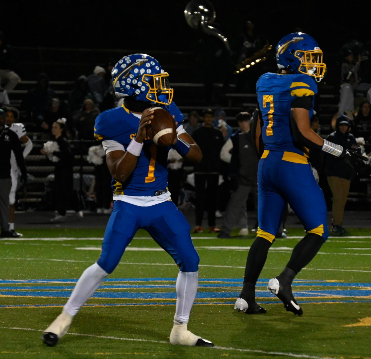
[{"label": "player in white uniform at far left behind man in black", "polygon": [[[26,156],[31,152],[33,145],[32,141],[29,139],[29,137],[27,137],[26,129],[24,128],[23,123],[16,123],[16,120],[18,120],[19,117],[19,112],[14,107],[4,107],[4,112],[5,124],[17,134],[20,142],[24,144],[23,158],[26,158]],[[13,151],[10,157],[10,164],[12,166],[10,170],[10,177],[12,178],[12,189],[10,190],[9,194],[9,232],[12,233],[13,237],[19,237],[22,235],[14,230],[14,203],[16,202],[18,168],[16,157],[14,156]]]}]

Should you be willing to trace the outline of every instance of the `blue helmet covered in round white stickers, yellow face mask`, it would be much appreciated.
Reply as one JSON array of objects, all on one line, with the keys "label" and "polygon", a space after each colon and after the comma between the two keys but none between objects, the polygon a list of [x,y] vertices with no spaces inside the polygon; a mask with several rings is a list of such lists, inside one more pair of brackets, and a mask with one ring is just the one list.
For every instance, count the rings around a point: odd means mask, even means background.
[{"label": "blue helmet covered in round white stickers, yellow face mask", "polygon": [[117,97],[169,105],[174,90],[168,85],[169,74],[160,63],[146,54],[124,56],[111,71],[112,85]]}]

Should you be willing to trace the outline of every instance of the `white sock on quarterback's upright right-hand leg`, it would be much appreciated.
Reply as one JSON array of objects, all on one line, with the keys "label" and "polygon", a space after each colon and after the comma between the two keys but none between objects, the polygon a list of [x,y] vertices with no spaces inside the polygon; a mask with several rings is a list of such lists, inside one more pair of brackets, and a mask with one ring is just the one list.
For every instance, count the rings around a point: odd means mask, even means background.
[{"label": "white sock on quarterback's upright right-hand leg", "polygon": [[174,323],[186,324],[196,298],[198,285],[197,272],[179,272],[177,279],[177,306],[175,309]]}]

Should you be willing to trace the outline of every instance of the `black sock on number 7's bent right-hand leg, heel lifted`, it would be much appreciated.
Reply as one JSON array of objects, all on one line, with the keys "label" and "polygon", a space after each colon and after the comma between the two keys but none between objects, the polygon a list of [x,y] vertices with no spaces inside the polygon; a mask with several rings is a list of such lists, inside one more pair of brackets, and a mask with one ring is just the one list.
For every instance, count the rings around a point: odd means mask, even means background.
[{"label": "black sock on number 7's bent right-hand leg, heel lifted", "polygon": [[[324,239],[315,233],[308,233],[294,248],[286,267],[298,274],[318,253]],[[283,272],[282,272],[283,273]]]}]

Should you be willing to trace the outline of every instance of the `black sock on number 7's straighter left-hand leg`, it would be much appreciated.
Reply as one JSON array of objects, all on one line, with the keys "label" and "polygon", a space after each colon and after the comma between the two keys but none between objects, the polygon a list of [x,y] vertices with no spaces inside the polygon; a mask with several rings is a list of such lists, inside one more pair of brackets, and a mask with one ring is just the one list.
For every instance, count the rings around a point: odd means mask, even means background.
[{"label": "black sock on number 7's straighter left-hand leg", "polygon": [[240,297],[246,302],[255,301],[255,285],[267,259],[268,250],[272,246],[269,240],[256,237],[247,255],[243,289]]}]

